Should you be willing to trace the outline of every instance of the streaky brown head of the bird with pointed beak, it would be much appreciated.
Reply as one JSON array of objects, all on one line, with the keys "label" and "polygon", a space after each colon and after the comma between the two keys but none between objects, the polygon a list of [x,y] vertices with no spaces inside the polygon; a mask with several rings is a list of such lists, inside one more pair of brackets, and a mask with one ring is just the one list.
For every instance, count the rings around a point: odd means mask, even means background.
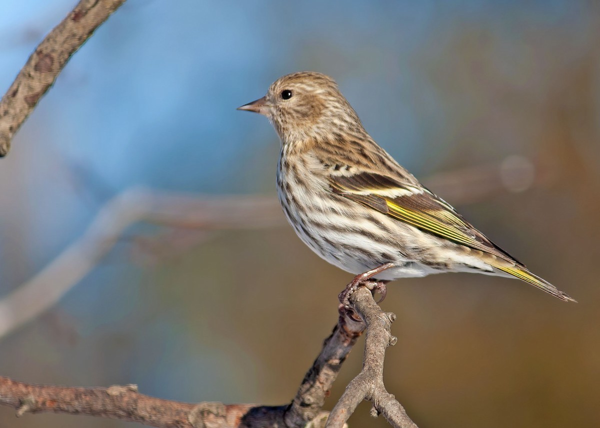
[{"label": "streaky brown head of the bird with pointed beak", "polygon": [[266,95],[241,106],[268,117],[285,144],[363,129],[356,112],[325,74],[300,71],[275,80]]}]

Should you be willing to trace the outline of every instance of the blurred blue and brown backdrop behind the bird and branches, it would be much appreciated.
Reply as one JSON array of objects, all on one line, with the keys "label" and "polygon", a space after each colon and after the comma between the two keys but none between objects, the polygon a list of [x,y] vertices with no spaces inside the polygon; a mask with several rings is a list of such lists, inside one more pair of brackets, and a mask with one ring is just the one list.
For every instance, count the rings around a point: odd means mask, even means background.
[{"label": "blurred blue and brown backdrop behind the bird and branches", "polygon": [[[0,92],[75,3],[2,2]],[[0,299],[136,186],[274,198],[277,135],[235,108],[283,74],[321,71],[392,156],[579,301],[481,275],[396,281],[382,303],[398,316],[388,390],[421,427],[597,427],[599,45],[597,2],[129,0],[0,160]],[[0,375],[289,402],[352,276],[305,247],[278,209],[260,228],[189,226],[125,228],[57,305],[5,331]],[[362,343],[326,409],[358,373]],[[350,426],[388,426],[368,409]],[[138,426],[17,420],[0,407],[2,428],[82,424]]]}]

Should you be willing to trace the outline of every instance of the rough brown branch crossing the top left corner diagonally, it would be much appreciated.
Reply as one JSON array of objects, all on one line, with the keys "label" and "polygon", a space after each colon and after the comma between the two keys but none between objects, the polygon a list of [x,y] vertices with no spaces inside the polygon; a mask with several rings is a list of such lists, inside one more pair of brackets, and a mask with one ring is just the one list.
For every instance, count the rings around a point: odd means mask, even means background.
[{"label": "rough brown branch crossing the top left corner diagonally", "polygon": [[0,101],[0,157],[71,55],[125,0],[81,0],[29,56]]}]

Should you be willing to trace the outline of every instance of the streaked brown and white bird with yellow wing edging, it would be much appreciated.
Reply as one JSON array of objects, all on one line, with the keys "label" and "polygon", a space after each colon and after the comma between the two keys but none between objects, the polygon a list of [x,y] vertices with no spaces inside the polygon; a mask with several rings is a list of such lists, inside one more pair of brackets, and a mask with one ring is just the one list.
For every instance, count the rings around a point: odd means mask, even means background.
[{"label": "streaked brown and white bird with yellow wing edging", "polygon": [[575,302],[491,242],[401,167],[362,125],[325,74],[280,77],[238,107],[269,119],[281,140],[277,195],[287,220],[317,255],[355,275],[340,293],[434,273],[518,278]]}]

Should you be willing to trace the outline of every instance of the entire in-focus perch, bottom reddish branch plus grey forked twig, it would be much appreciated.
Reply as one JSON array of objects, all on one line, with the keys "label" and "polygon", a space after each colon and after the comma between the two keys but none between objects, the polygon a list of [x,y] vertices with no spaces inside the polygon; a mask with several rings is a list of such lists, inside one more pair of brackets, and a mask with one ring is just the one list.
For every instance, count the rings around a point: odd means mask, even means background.
[{"label": "entire in-focus perch, bottom reddish branch plus grey forked twig", "polygon": [[[383,414],[392,426],[416,428],[383,386],[385,348],[396,341],[389,332],[394,314],[382,312],[364,287],[349,300],[365,322],[356,321],[340,309],[338,323],[323,342],[319,356],[289,405],[182,403],[140,394],[136,385],[80,388],[25,384],[4,377],[0,377],[0,404],[17,409],[17,417],[26,412],[85,414],[169,428],[342,428],[358,403],[367,399],[373,402],[374,415]],[[328,419],[329,413],[322,411],[323,403],[341,364],[365,330],[363,369],[350,382]]]}]

